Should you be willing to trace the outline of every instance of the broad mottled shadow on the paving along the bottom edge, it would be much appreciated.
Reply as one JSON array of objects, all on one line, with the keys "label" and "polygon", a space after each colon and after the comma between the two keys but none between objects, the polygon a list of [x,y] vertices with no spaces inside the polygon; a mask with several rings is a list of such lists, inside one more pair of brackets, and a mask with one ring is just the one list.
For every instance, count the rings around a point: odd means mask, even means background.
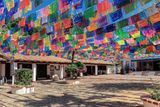
[{"label": "broad mottled shadow on the paving along the bottom edge", "polygon": [[[107,96],[106,96],[107,97]],[[94,99],[100,98],[99,96],[93,97]],[[91,98],[92,99],[92,98]],[[48,95],[41,100],[23,100],[25,106],[29,107],[142,107],[136,103],[125,102],[94,102],[89,99],[81,99],[74,95],[64,94],[64,96]],[[19,102],[19,101],[18,101]]]}]

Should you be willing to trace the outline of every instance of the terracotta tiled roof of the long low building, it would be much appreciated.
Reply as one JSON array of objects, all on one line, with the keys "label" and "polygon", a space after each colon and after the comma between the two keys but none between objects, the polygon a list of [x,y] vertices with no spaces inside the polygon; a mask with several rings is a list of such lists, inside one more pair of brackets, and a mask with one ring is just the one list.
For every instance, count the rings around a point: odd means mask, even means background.
[{"label": "terracotta tiled roof of the long low building", "polygon": [[[10,60],[12,55],[4,55],[0,53],[0,61]],[[32,56],[32,55],[14,55],[15,62],[39,62],[39,63],[71,63],[71,60],[65,58],[59,58],[55,56]],[[113,65],[111,62],[103,60],[75,60],[81,61],[84,64],[101,64],[101,65]]]}]

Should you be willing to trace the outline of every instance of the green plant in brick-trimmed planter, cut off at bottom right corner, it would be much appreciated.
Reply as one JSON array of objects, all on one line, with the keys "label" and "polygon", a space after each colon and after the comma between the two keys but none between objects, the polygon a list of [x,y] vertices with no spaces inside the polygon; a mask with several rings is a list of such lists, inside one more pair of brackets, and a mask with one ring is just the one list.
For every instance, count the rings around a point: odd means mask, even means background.
[{"label": "green plant in brick-trimmed planter, cut off at bottom right corner", "polygon": [[160,107],[160,84],[154,84],[153,88],[147,89],[149,95],[142,96],[144,107]]}]

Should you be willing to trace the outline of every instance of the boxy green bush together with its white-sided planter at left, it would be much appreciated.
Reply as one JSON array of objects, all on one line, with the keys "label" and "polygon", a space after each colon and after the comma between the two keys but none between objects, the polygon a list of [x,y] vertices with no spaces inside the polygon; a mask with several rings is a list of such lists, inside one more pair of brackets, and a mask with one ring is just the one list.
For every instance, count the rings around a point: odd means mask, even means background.
[{"label": "boxy green bush together with its white-sided planter at left", "polygon": [[28,94],[34,92],[34,86],[32,85],[32,70],[16,70],[15,79],[15,85],[12,86],[11,93]]}]

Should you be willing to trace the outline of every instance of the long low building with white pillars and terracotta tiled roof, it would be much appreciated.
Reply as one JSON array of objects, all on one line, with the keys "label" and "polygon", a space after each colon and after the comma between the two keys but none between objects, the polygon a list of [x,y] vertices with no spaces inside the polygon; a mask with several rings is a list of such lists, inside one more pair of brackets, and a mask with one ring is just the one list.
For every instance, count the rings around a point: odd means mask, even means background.
[{"label": "long low building with white pillars and terracotta tiled roof", "polygon": [[[0,55],[0,75],[12,78],[16,69],[28,68],[33,71],[33,81],[40,79],[49,79],[52,75],[57,74],[60,79],[66,77],[65,68],[71,64],[71,60],[58,58],[54,56],[31,56],[31,55],[14,55],[14,63],[10,61],[11,55]],[[84,75],[99,75],[113,73],[113,64],[102,60],[79,60],[87,68]],[[111,70],[112,69],[112,70]],[[83,76],[81,73],[80,76]]]}]

